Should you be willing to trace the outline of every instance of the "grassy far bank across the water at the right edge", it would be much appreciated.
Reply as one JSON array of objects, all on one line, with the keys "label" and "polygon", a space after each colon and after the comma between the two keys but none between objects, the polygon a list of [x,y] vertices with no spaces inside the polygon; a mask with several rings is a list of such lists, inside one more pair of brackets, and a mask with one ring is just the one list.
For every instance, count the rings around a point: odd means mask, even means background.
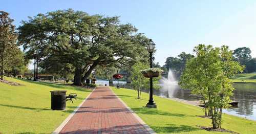
[{"label": "grassy far bank across the water at the right edge", "polygon": [[236,74],[233,78],[233,82],[255,82],[256,83],[256,73]]}]

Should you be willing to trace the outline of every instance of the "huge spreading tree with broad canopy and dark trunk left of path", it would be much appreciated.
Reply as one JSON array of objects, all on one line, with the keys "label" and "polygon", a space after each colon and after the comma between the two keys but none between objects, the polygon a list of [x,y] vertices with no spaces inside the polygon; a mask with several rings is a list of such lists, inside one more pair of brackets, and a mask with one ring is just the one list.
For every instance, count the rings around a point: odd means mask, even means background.
[{"label": "huge spreading tree with broad canopy and dark trunk left of path", "polygon": [[147,38],[131,24],[120,24],[116,16],[58,10],[30,17],[18,30],[18,41],[29,55],[37,51],[41,60],[57,57],[55,62],[72,64],[75,85],[97,65],[129,66],[147,54]]}]

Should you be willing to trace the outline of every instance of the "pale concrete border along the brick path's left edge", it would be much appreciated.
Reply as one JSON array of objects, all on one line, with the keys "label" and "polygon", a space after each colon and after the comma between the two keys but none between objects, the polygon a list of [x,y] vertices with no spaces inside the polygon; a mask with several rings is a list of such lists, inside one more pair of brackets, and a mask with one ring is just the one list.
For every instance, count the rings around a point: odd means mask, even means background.
[{"label": "pale concrete border along the brick path's left edge", "polygon": [[92,92],[86,97],[86,99],[84,99],[73,111],[73,113],[71,113],[53,132],[52,134],[58,134],[63,127],[65,127],[65,125],[69,122],[69,120],[76,114],[77,110],[82,106],[82,104],[91,96],[91,94],[93,93],[93,91],[95,90],[95,88],[92,90]]}]

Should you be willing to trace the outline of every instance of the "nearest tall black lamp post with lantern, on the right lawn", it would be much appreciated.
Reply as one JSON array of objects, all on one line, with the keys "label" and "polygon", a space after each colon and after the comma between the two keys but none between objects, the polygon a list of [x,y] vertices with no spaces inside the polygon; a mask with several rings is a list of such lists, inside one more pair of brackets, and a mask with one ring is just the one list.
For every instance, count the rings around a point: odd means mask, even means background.
[{"label": "nearest tall black lamp post with lantern, on the right lawn", "polygon": [[[153,68],[152,66],[152,54],[155,51],[155,43],[152,39],[150,39],[150,41],[148,42],[148,44],[146,45],[146,49],[148,51],[148,53],[150,53],[150,68]],[[156,103],[154,103],[154,99],[153,99],[153,78],[150,78],[150,100],[148,100],[148,103],[146,104],[146,107],[150,107],[150,108],[156,108],[157,105]]]}]

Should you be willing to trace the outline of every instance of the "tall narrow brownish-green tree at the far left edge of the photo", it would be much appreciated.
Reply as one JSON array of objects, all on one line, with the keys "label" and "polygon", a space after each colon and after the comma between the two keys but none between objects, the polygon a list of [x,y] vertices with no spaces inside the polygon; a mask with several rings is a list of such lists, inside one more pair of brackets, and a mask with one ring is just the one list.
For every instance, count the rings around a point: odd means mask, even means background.
[{"label": "tall narrow brownish-green tree at the far left edge of the photo", "polygon": [[4,75],[5,59],[13,55],[12,50],[16,46],[15,26],[12,25],[13,19],[9,13],[0,11],[0,62],[1,62],[1,80]]}]

